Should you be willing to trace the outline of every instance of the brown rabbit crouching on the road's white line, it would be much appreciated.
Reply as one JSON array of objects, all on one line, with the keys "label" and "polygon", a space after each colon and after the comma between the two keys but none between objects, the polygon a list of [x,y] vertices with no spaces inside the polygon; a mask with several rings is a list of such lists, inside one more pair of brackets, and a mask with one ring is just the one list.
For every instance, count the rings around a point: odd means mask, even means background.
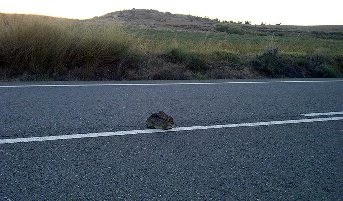
[{"label": "brown rabbit crouching on the road's white line", "polygon": [[174,119],[163,111],[158,111],[147,118],[147,128],[163,128],[164,130],[172,129]]}]

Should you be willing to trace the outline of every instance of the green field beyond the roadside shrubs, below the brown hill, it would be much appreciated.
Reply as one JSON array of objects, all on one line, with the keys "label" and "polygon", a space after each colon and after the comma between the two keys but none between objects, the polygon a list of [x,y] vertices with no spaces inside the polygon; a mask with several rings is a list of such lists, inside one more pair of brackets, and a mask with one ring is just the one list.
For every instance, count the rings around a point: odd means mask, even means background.
[{"label": "green field beyond the roadside shrubs, below the brown hill", "polygon": [[[203,33],[185,31],[135,30],[132,31],[147,41],[144,48],[159,52],[166,46],[182,44],[191,51],[228,50],[239,54],[258,54],[270,45],[270,40],[280,53],[313,54],[323,52],[330,55],[343,54],[343,40],[312,37],[272,37],[227,33]],[[148,43],[148,44],[147,44]]]}]

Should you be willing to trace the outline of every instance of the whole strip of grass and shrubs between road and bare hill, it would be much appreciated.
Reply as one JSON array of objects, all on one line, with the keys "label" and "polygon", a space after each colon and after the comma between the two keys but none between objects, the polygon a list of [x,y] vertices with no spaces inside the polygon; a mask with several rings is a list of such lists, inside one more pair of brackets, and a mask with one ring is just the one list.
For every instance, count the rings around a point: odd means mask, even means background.
[{"label": "whole strip of grass and shrubs between road and bare hill", "polygon": [[0,13],[0,80],[343,76],[339,37],[287,36],[282,30],[281,36],[261,36],[260,29],[255,35],[128,29],[113,22]]}]

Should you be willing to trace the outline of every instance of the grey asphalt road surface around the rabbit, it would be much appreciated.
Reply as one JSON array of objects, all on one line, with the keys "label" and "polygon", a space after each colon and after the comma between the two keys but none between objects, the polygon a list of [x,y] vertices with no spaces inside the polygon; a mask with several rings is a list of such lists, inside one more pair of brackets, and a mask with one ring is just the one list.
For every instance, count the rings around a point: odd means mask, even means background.
[{"label": "grey asphalt road surface around the rabbit", "polygon": [[[326,80],[2,82],[0,140],[141,130],[158,110],[174,127],[343,111]],[[239,83],[94,86],[186,82]],[[1,87],[45,84],[90,85]],[[343,120],[0,144],[0,201],[341,201],[342,147]]]}]

